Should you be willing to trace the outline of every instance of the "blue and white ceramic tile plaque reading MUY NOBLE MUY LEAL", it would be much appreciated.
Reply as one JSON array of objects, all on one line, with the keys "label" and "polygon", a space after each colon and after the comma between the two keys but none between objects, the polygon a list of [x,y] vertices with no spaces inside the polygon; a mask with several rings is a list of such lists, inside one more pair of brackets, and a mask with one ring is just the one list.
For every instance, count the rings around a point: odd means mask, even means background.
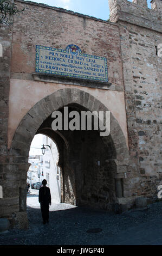
[{"label": "blue and white ceramic tile plaque reading MUY NOBLE MUY LEAL", "polygon": [[82,53],[77,45],[66,50],[36,45],[36,72],[108,82],[105,57]]}]

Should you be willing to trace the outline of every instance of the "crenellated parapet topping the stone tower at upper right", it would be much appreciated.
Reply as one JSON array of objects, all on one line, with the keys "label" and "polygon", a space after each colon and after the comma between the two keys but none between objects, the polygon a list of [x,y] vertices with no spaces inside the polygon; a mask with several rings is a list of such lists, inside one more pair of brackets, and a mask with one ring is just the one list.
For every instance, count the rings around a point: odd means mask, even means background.
[{"label": "crenellated parapet topping the stone tower at upper right", "polygon": [[126,21],[134,25],[162,32],[162,0],[152,0],[151,8],[147,0],[109,0],[110,21]]}]

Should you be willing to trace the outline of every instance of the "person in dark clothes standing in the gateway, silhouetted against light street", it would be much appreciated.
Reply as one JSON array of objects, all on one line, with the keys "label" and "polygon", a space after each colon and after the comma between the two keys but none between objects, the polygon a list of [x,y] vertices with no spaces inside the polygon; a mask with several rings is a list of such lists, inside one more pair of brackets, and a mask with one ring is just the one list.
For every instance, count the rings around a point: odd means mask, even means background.
[{"label": "person in dark clothes standing in the gateway, silhouetted against light street", "polygon": [[43,186],[39,190],[39,203],[41,204],[41,212],[43,224],[49,222],[49,205],[51,205],[51,195],[49,187],[46,187],[47,180],[42,181]]}]

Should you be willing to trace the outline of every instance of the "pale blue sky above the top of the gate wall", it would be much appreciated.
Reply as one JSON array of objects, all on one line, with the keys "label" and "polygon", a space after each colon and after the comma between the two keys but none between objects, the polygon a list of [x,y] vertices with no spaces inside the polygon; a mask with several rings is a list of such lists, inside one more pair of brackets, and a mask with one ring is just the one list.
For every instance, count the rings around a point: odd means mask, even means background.
[{"label": "pale blue sky above the top of the gate wall", "polygon": [[[108,0],[35,0],[31,2],[48,4],[61,7],[76,13],[86,14],[102,20],[109,19]],[[128,0],[132,2],[132,0]],[[148,8],[151,8],[151,0],[147,0]]]}]

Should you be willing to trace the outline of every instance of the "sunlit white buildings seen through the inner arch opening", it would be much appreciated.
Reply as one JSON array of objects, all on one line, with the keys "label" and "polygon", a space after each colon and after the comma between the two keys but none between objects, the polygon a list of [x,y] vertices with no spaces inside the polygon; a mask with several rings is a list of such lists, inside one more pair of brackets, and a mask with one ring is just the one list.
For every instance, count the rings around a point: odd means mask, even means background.
[{"label": "sunlit white buildings seen through the inner arch opening", "polygon": [[[46,148],[44,155],[42,154],[42,145]],[[29,163],[31,166],[28,170],[28,179],[30,186],[35,182],[47,180],[47,186],[50,188],[52,201],[61,202],[61,182],[60,168],[57,166],[59,161],[59,153],[56,144],[46,135],[38,134],[34,137],[30,152]]]}]

